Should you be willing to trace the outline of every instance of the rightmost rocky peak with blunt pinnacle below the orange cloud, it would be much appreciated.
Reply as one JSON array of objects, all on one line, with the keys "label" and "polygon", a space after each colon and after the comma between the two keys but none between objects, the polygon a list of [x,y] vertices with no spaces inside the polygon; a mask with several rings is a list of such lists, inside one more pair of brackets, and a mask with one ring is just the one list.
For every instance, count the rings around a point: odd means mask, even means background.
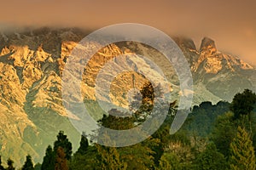
[{"label": "rightmost rocky peak with blunt pinnacle below the orange cloud", "polygon": [[245,88],[255,90],[255,69],[236,56],[223,54],[215,42],[204,38],[199,57],[192,68],[195,85],[203,83],[208,91],[220,99],[231,101]]}]

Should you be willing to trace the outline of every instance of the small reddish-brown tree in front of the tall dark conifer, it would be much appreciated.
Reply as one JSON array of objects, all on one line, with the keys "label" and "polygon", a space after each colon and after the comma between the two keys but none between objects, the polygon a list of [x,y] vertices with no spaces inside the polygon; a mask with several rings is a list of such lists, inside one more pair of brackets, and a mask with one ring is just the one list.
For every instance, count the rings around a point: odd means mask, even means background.
[{"label": "small reddish-brown tree in front of the tall dark conifer", "polygon": [[55,156],[55,170],[68,170],[67,158],[63,148],[59,147]]}]

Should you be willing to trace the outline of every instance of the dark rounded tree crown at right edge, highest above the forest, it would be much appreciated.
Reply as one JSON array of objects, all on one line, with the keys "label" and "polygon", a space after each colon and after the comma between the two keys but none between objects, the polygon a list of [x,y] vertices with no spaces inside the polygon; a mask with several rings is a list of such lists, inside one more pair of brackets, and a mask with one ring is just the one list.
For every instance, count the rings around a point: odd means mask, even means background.
[{"label": "dark rounded tree crown at right edge, highest above the forest", "polygon": [[234,112],[235,118],[240,118],[245,115],[250,116],[255,103],[256,94],[249,89],[245,89],[241,94],[235,95],[230,105],[230,110]]}]

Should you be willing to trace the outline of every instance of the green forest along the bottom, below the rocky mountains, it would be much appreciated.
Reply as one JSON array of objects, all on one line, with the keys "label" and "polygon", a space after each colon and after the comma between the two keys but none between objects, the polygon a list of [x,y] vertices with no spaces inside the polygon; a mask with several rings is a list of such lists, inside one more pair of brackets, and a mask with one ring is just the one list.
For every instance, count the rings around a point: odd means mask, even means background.
[{"label": "green forest along the bottom, below the rocky mountains", "polygon": [[[152,95],[144,93],[143,99],[147,97],[151,99]],[[152,105],[142,105],[135,116],[104,115],[98,123],[111,129],[130,129],[142,122],[138,115],[151,109]],[[206,101],[195,105],[183,127],[171,135],[169,130],[177,113],[174,101],[165,122],[141,143],[126,147],[97,144],[92,139],[105,134],[99,129],[93,136],[81,134],[79,149],[73,150],[67,135],[60,130],[53,144],[45,149],[43,162],[34,163],[32,156],[27,155],[23,167],[14,167],[10,156],[7,167],[3,167],[0,156],[0,170],[254,170],[255,112],[256,94],[245,89],[231,103],[219,101],[212,105]]]}]

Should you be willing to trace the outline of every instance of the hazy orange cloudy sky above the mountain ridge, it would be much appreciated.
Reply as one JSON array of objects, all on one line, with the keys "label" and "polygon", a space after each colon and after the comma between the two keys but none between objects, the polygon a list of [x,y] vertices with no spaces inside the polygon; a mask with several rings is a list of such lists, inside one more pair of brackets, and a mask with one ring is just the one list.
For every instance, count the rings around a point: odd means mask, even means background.
[{"label": "hazy orange cloudy sky above the mountain ridge", "polygon": [[254,0],[9,0],[1,1],[0,29],[142,23],[171,35],[211,37],[219,50],[256,65]]}]

